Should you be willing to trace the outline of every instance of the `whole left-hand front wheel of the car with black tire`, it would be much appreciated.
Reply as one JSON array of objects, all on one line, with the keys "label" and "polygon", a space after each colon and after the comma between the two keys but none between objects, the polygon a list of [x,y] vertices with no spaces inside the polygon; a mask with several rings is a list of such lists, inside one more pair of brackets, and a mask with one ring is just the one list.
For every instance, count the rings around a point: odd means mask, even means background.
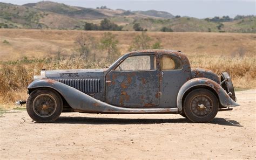
[{"label": "whole left-hand front wheel of the car with black tire", "polygon": [[29,116],[39,123],[49,123],[57,120],[62,110],[62,98],[50,88],[33,91],[26,102],[26,111]]}]

